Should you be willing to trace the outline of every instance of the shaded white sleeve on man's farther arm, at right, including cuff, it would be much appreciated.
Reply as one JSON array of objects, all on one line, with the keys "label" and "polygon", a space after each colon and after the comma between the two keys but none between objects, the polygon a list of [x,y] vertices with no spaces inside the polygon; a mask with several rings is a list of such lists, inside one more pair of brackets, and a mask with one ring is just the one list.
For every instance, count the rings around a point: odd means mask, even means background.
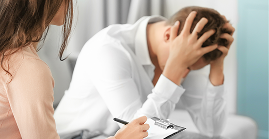
[{"label": "shaded white sleeve on man's farther arm, at right, including cuff", "polygon": [[180,103],[191,115],[201,134],[220,136],[226,119],[224,84],[214,86],[208,75],[190,72],[182,83],[186,89]]}]

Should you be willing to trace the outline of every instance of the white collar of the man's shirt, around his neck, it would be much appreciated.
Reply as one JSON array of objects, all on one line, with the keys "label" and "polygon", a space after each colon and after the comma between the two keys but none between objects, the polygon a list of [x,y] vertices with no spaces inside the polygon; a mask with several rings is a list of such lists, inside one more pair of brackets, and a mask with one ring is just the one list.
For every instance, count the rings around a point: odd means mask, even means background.
[{"label": "white collar of the man's shirt, around his neck", "polygon": [[150,60],[148,43],[147,43],[147,25],[148,23],[155,23],[158,21],[167,20],[162,16],[150,16],[142,20],[138,26],[135,40],[134,40],[134,50],[135,55],[142,65],[153,65]]}]

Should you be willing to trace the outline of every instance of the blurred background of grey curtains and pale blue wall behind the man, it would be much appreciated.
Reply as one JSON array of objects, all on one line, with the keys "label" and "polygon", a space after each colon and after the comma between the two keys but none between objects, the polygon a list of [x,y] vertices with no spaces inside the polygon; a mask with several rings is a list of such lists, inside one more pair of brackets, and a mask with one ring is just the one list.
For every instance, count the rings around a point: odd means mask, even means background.
[{"label": "blurred background of grey curtains and pale blue wall behind the man", "polygon": [[169,18],[185,6],[209,7],[236,28],[235,40],[224,61],[228,112],[254,119],[257,139],[269,139],[268,0],[74,0],[74,5],[75,27],[65,52],[69,58],[65,61],[58,58],[61,26],[50,27],[38,52],[55,79],[55,108],[68,89],[81,48],[101,29],[115,23],[133,24],[143,16]]}]

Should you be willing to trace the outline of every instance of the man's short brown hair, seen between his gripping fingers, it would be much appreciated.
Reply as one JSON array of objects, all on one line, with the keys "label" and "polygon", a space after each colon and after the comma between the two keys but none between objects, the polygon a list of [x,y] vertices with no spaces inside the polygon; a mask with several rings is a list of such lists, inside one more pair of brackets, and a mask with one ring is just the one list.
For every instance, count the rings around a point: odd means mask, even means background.
[{"label": "man's short brown hair, seen between his gripping fingers", "polygon": [[[198,23],[199,20],[201,20],[203,17],[208,20],[207,24],[203,27],[202,31],[198,33],[198,38],[202,36],[203,33],[214,29],[216,32],[213,34],[209,39],[207,39],[203,44],[202,47],[213,45],[213,44],[218,44],[218,45],[223,45],[227,46],[228,42],[226,39],[221,39],[220,36],[223,33],[228,33],[231,34],[231,31],[228,31],[223,28],[224,24],[227,22],[224,20],[224,18],[214,9],[210,8],[204,8],[204,7],[198,7],[198,6],[191,6],[191,7],[185,7],[179,12],[177,12],[175,15],[173,15],[168,21],[167,24],[169,25],[174,25],[174,23],[179,20],[180,25],[179,25],[179,32],[178,35],[180,34],[181,30],[183,29],[184,23],[190,12],[196,11],[197,15],[195,19],[193,20],[191,30],[190,32],[192,33],[195,25]],[[215,49],[209,53],[206,53],[203,55],[203,58],[206,61],[211,61],[211,60],[216,60],[217,58],[221,57],[223,53]]]}]

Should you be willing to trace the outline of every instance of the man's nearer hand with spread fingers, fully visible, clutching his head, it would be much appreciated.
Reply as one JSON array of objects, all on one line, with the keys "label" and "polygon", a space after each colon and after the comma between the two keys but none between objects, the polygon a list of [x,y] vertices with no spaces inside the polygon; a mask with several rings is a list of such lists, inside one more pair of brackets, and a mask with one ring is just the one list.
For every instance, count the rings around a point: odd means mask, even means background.
[{"label": "man's nearer hand with spread fingers, fully visible, clutching his head", "polygon": [[180,80],[186,72],[187,68],[193,65],[204,54],[213,51],[217,44],[202,48],[202,43],[212,36],[215,31],[209,30],[205,32],[199,39],[198,33],[202,31],[207,19],[202,18],[195,26],[192,33],[190,29],[197,12],[193,11],[187,17],[181,33],[178,35],[179,21],[171,27],[170,35],[170,54],[165,64],[163,75],[176,84],[180,84]]}]

